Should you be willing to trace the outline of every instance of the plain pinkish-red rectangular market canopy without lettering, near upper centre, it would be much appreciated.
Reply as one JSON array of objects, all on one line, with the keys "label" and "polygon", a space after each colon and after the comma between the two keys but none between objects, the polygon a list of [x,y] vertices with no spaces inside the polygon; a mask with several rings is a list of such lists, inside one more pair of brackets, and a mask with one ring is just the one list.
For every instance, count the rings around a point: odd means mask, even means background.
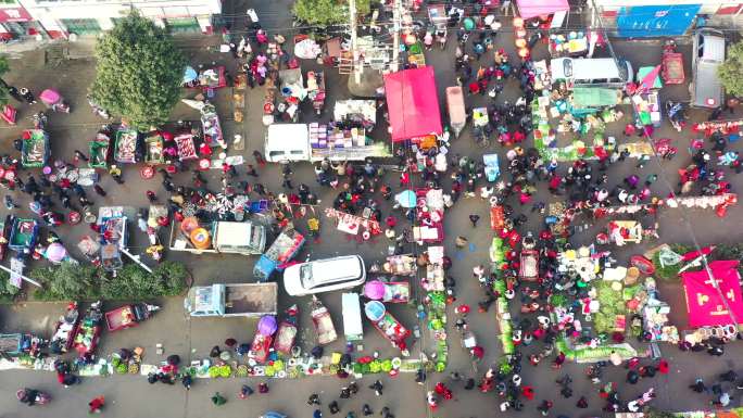
[{"label": "plain pinkish-red rectangular market canopy without lettering, near upper centre", "polygon": [[433,67],[404,69],[385,76],[392,142],[441,135],[441,111]]}]

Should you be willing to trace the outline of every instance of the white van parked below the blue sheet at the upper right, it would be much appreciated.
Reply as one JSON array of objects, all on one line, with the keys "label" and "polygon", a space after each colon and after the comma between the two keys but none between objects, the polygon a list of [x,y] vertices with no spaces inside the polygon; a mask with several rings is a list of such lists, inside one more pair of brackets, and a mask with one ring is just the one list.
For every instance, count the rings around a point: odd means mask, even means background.
[{"label": "white van parked below the blue sheet at the upper right", "polygon": [[[618,65],[617,65],[618,64]],[[627,60],[610,58],[557,58],[550,61],[552,83],[567,81],[572,87],[624,88],[632,80],[632,64]]]}]

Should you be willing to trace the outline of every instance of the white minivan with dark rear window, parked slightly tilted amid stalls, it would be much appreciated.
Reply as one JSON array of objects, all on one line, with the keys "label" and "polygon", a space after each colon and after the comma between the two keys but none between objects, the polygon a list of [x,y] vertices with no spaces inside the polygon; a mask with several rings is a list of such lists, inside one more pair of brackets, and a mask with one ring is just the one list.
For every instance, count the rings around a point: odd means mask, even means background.
[{"label": "white minivan with dark rear window, parked slightly tilted amid stalls", "polygon": [[284,270],[284,288],[290,296],[349,289],[363,284],[364,281],[366,267],[358,255],[315,259]]}]

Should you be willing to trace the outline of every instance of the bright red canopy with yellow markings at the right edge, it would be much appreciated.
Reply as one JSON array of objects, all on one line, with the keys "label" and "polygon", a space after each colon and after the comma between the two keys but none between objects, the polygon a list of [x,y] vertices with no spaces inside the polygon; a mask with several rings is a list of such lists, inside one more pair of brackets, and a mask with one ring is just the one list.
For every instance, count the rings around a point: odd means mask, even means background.
[{"label": "bright red canopy with yellow markings at the right edge", "polygon": [[[713,279],[706,270],[684,271],[681,274],[687,296],[689,326],[692,328],[713,327],[734,324],[726,302],[732,311],[735,321],[743,320],[743,296],[741,295],[741,276],[738,273],[739,261],[716,261],[709,263],[709,269],[717,281],[720,292],[715,289]],[[722,293],[722,296],[720,296]],[[725,301],[722,301],[725,297]]]}]

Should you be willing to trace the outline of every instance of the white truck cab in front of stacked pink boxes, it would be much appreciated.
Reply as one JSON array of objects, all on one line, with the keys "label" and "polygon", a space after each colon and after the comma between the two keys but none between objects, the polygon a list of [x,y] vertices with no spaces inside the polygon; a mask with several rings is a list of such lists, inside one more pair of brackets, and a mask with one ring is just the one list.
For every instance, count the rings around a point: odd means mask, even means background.
[{"label": "white truck cab in front of stacked pink boxes", "polygon": [[306,124],[273,124],[266,131],[264,155],[269,163],[310,161],[310,131]]}]

